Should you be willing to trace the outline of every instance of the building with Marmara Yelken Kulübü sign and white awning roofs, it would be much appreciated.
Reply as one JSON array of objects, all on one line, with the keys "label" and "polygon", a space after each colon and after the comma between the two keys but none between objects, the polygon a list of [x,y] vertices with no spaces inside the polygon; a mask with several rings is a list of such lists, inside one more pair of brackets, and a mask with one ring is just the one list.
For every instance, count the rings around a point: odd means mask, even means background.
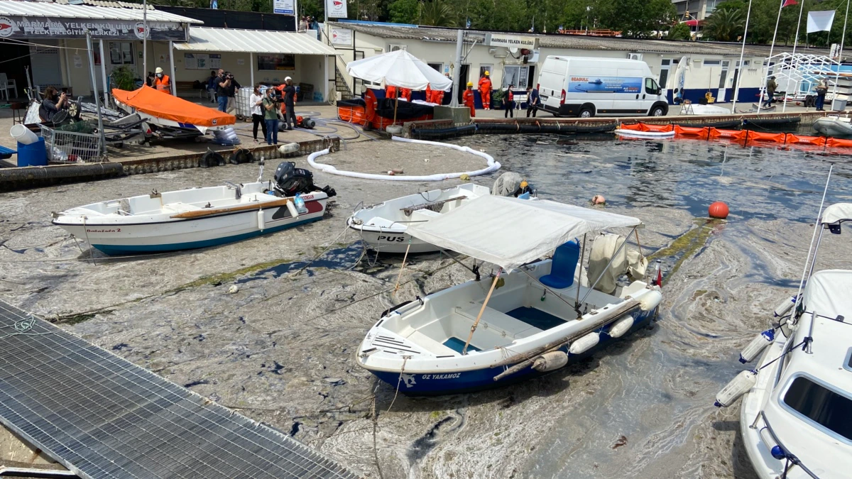
[{"label": "building with Marmara Yelken Kul\u00fcb\u00fc sign and white awning roofs", "polygon": [[[94,43],[99,92],[119,66],[130,66],[138,78],[145,77],[141,4],[84,2],[0,0],[0,57],[12,59],[0,72],[16,80],[19,96],[26,87],[24,66],[30,67],[32,84],[42,91],[53,85],[70,88],[75,96],[91,95],[87,32]],[[97,6],[107,4],[111,6]],[[318,41],[315,32],[204,28],[200,20],[151,6],[145,16],[147,70],[163,68],[177,86],[174,90],[196,80],[205,83],[219,67],[233,72],[244,86],[279,84],[289,76],[295,84],[313,87],[312,101],[327,101],[333,89],[336,52]],[[184,93],[192,92],[181,90]]]}]

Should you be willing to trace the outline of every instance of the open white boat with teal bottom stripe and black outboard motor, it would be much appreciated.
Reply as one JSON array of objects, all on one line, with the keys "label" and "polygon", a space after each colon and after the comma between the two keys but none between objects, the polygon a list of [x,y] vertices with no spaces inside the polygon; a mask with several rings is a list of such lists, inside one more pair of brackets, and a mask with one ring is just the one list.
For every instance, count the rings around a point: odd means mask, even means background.
[{"label": "open white boat with teal bottom stripe and black outboard motor", "polygon": [[[54,213],[53,223],[107,255],[222,245],[322,219],[333,188],[282,162],[275,181],[112,199]],[[298,193],[298,199],[295,195]],[[299,201],[301,199],[302,201]]]}]

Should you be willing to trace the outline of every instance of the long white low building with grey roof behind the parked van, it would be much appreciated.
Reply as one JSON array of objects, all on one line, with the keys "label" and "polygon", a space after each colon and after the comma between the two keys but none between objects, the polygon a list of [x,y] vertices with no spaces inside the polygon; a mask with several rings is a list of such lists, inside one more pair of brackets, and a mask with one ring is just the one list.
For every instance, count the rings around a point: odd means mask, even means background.
[{"label": "long white low building with grey roof behind the parked van", "polygon": [[[417,58],[428,62],[440,72],[452,74],[456,56],[457,29],[423,26],[401,26],[369,22],[332,22],[332,46],[341,55],[343,63],[394,49],[406,49]],[[684,75],[683,97],[694,102],[710,93],[716,101],[731,101],[735,82],[739,79],[740,96],[737,101],[755,102],[765,69],[764,59],[769,56],[769,46],[746,45],[743,68],[740,68],[740,44],[713,42],[674,42],[666,40],[637,40],[628,38],[602,38],[579,35],[520,34],[523,38],[536,38],[538,48],[522,55],[520,49],[511,51],[504,47],[486,45],[489,32],[466,31],[464,60],[461,66],[462,84],[477,84],[481,72],[491,72],[494,89],[506,88],[510,83],[518,89],[535,86],[538,65],[548,55],[591,56],[608,58],[635,58],[646,61],[657,76],[658,83],[668,85],[671,103],[673,89],[680,88],[670,81],[677,64],[687,61]],[[505,33],[494,32],[505,35]],[[786,47],[776,47],[780,53]],[[821,52],[826,55],[827,52]],[[339,66],[338,66],[338,69]],[[345,74],[345,72],[344,72]],[[354,93],[360,95],[365,85],[353,78],[344,78]],[[381,85],[366,85],[381,88]],[[476,94],[476,107],[481,107]],[[446,99],[445,99],[446,101]]]}]

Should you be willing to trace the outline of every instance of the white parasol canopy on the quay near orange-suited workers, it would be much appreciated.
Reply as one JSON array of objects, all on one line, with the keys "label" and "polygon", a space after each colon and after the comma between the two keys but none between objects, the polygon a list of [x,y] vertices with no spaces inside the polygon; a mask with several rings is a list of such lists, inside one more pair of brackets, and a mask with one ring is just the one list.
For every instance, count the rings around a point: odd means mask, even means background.
[{"label": "white parasol canopy on the quay near orange-suited workers", "polygon": [[374,83],[384,82],[400,88],[419,90],[426,89],[426,85],[443,91],[452,88],[452,79],[446,78],[406,50],[395,50],[349,62],[346,72],[354,78]]}]

